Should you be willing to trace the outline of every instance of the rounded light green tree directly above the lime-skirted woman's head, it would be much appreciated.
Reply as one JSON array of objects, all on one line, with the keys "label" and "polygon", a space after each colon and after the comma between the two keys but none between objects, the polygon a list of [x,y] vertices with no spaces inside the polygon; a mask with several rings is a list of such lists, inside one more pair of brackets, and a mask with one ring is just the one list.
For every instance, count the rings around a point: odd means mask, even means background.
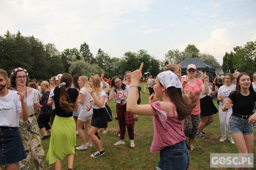
[{"label": "rounded light green tree directly above the lime-skirted woman's head", "polygon": [[65,68],[65,72],[68,72],[72,57],[75,56],[76,60],[80,60],[81,56],[79,55],[79,51],[76,48],[72,49],[65,49],[61,52],[61,61],[63,63],[63,66]]}]

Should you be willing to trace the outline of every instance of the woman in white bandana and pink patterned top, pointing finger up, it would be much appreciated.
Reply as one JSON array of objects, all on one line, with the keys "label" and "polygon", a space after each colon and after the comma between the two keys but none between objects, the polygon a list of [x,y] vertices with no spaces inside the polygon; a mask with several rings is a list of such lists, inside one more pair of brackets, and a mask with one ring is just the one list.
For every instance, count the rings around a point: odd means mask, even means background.
[{"label": "woman in white bandana and pink patterned top, pointing finger up", "polygon": [[[188,169],[189,154],[185,144],[183,120],[190,115],[198,98],[194,94],[190,95],[188,90],[185,90],[183,97],[179,78],[171,71],[164,71],[157,75],[155,94],[150,98],[152,103],[138,105],[138,81],[142,75],[142,67],[143,63],[139,70],[131,73],[126,109],[132,114],[153,116],[154,138],[150,152],[160,151],[156,169]],[[156,102],[157,97],[162,101]]]}]

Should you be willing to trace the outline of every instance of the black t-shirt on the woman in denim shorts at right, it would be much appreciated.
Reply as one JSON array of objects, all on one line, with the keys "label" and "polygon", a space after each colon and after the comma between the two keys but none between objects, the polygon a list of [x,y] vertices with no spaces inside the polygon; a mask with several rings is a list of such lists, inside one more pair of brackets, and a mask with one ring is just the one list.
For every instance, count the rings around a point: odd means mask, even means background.
[{"label": "black t-shirt on the woman in denim shorts at right", "polygon": [[233,113],[244,116],[252,114],[256,102],[256,92],[254,90],[250,90],[248,96],[243,96],[241,93],[237,95],[231,93],[228,97],[234,104],[232,107]]}]

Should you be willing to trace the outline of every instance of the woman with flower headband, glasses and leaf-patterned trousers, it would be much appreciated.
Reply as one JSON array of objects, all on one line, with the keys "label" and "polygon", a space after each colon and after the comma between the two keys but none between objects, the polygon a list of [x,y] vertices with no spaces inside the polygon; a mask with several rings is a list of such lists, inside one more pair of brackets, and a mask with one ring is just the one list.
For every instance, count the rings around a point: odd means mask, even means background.
[{"label": "woman with flower headband, glasses and leaf-patterned trousers", "polygon": [[23,87],[29,114],[28,120],[19,119],[18,129],[27,155],[26,159],[19,162],[19,169],[29,169],[31,157],[34,158],[35,169],[43,169],[44,150],[41,145],[41,135],[36,118],[36,114],[40,112],[38,91],[28,87],[28,72],[20,67],[12,71],[10,82],[14,89]]}]

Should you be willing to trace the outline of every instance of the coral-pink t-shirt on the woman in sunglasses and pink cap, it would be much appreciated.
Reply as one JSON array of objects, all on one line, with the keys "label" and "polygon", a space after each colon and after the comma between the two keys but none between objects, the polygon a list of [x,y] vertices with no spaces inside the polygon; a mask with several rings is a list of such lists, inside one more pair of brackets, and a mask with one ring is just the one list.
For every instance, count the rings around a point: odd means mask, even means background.
[{"label": "coral-pink t-shirt on the woman in sunglasses and pink cap", "polygon": [[[181,83],[183,82],[185,78],[182,78],[181,79]],[[198,115],[201,113],[201,109],[200,109],[200,100],[199,100],[199,96],[200,96],[200,92],[201,92],[201,89],[200,89],[200,86],[203,85],[203,82],[199,79],[196,79],[196,85],[194,87],[191,87],[188,85],[188,83],[186,83],[184,86],[183,86],[183,92],[186,90],[187,86],[188,86],[188,90],[190,92],[193,92],[196,96],[198,96],[198,100],[197,100],[197,105],[196,107],[193,109],[193,111],[191,112],[191,115]]]}]

